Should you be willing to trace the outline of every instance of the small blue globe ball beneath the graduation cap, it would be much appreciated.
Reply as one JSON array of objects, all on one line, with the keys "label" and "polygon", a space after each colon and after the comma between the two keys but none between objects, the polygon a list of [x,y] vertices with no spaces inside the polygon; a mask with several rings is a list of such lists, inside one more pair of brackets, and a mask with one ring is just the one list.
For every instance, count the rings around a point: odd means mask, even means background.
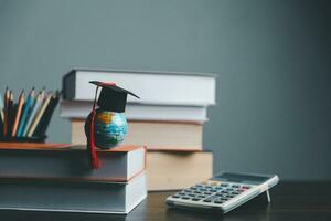
[{"label": "small blue globe ball beneath the graduation cap", "polygon": [[[90,116],[85,125],[89,131]],[[89,124],[88,124],[89,122]],[[86,127],[87,126],[87,127]],[[103,149],[115,147],[121,143],[128,133],[128,123],[124,114],[97,109],[95,115],[95,145]],[[88,135],[88,134],[87,134]]]}]

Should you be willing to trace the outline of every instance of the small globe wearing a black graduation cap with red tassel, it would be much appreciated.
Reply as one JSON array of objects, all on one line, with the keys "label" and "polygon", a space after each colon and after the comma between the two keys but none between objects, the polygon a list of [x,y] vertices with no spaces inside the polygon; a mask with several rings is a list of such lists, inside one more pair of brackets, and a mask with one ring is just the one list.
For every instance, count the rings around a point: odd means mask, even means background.
[{"label": "small globe wearing a black graduation cap with red tassel", "polygon": [[[130,94],[139,97],[113,82],[92,81],[89,83],[97,87],[92,112],[85,122],[85,134],[90,167],[98,169],[102,162],[98,159],[96,148],[111,148],[124,140],[128,131],[128,124],[122,114],[126,110],[127,96]],[[102,91],[98,95],[99,87]]]}]

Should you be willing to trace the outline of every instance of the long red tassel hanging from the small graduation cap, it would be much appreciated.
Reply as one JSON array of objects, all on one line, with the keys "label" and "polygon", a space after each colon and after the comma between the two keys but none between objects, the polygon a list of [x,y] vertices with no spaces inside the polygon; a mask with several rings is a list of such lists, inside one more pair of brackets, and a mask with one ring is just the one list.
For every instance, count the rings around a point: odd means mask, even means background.
[{"label": "long red tassel hanging from the small graduation cap", "polygon": [[93,103],[93,109],[92,109],[92,120],[90,120],[90,130],[89,130],[89,143],[87,145],[87,148],[89,149],[89,159],[90,159],[90,167],[93,169],[98,169],[102,166],[100,159],[97,156],[96,152],[96,146],[95,146],[95,135],[94,135],[94,123],[95,123],[95,105],[96,105],[96,97],[98,94],[99,86],[96,87],[94,103]]}]

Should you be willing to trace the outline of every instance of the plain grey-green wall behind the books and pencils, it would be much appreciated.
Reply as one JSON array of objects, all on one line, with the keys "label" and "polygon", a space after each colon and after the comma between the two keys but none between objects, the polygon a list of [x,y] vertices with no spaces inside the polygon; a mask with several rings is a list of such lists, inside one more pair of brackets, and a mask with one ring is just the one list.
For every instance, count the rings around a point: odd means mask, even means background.
[{"label": "plain grey-green wall behind the books and pencils", "polygon": [[[0,90],[72,67],[212,72],[214,171],[331,178],[330,4],[296,0],[0,0]],[[68,141],[58,117],[50,141]]]}]

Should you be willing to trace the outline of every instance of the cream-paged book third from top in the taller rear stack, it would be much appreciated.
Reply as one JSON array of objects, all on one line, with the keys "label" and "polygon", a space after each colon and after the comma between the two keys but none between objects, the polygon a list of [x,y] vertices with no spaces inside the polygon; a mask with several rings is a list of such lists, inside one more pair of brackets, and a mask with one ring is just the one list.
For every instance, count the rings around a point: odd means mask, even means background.
[{"label": "cream-paged book third from top in the taller rear stack", "polygon": [[[71,141],[86,145],[85,122],[71,120]],[[122,145],[142,145],[149,150],[202,150],[203,125],[178,122],[128,122]]]}]

